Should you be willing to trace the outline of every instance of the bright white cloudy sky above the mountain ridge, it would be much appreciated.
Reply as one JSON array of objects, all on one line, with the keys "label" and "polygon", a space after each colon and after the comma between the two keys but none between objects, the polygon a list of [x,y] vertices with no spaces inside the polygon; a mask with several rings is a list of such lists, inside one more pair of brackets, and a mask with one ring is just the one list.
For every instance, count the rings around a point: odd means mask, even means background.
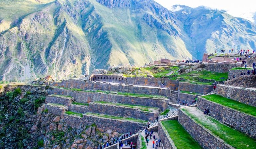
[{"label": "bright white cloudy sky above the mountain ridge", "polygon": [[186,5],[192,8],[206,6],[225,10],[234,17],[241,17],[256,23],[256,2],[254,0],[154,0],[172,10],[173,5]]}]

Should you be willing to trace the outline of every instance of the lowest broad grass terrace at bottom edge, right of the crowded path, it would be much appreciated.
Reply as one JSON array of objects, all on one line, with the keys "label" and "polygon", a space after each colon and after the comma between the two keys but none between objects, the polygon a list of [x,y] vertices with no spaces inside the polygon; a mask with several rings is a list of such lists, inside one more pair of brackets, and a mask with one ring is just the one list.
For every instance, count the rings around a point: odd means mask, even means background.
[{"label": "lowest broad grass terrace at bottom edge, right of the crowded path", "polygon": [[162,121],[160,123],[167,130],[177,149],[201,148],[177,120]]}]

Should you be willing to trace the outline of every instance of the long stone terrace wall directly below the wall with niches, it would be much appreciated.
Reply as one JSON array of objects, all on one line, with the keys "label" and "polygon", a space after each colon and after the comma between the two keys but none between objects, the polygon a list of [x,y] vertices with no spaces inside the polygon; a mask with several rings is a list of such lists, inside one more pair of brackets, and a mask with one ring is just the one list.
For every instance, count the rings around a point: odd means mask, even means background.
[{"label": "long stone terrace wall directly below the wall with niches", "polygon": [[84,90],[104,90],[113,92],[125,92],[125,93],[137,93],[148,95],[161,95],[170,98],[171,90],[164,88],[150,88],[150,87],[137,87],[126,85],[114,85],[110,83],[82,81],[82,80],[63,80],[61,82],[54,82],[50,84],[53,86],[65,87],[65,88],[80,88]]}]

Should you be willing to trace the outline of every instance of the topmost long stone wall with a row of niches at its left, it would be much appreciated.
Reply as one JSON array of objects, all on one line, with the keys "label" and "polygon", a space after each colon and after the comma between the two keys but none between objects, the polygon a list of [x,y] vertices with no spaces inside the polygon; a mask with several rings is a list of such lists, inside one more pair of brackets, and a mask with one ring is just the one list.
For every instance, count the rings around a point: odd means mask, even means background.
[{"label": "topmost long stone wall with a row of niches at its left", "polygon": [[[149,86],[161,86],[161,83],[164,83],[164,87],[168,87],[172,90],[178,90],[179,81],[178,80],[170,80],[168,78],[155,78],[155,77],[124,77],[122,75],[100,75],[94,74],[91,77],[97,81],[105,81],[105,82],[114,82],[119,83],[119,78],[121,83],[128,83],[134,85],[149,85]],[[93,80],[93,79],[91,79]]]}]

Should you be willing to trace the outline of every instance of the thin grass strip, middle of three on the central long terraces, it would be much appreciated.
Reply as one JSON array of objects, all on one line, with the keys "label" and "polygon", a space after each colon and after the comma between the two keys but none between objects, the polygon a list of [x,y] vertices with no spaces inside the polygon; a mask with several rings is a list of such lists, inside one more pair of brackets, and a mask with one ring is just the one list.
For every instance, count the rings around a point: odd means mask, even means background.
[{"label": "thin grass strip, middle of three on the central long terraces", "polygon": [[121,104],[121,103],[112,103],[112,102],[106,102],[106,101],[95,101],[94,103],[101,103],[101,104],[108,104],[108,105],[115,105],[115,106],[123,106],[128,108],[137,108],[142,111],[154,111],[158,108],[155,107],[148,107],[148,106],[141,106],[141,105],[131,105],[131,104]]}]

